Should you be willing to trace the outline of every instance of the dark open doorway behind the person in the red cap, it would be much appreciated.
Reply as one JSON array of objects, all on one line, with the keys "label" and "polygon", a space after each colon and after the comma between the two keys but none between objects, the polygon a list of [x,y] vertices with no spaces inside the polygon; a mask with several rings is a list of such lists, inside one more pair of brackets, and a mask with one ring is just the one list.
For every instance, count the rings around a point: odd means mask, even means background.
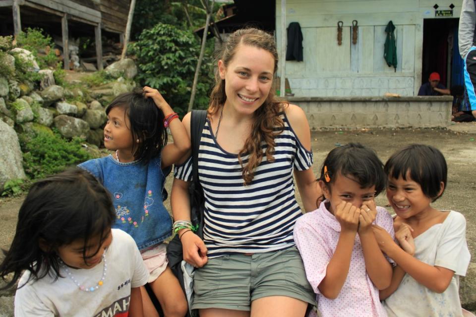
[{"label": "dark open doorway behind the person in the red cap", "polygon": [[440,83],[447,88],[461,84],[458,23],[458,18],[423,20],[422,84],[428,81],[432,72],[440,74]]}]

